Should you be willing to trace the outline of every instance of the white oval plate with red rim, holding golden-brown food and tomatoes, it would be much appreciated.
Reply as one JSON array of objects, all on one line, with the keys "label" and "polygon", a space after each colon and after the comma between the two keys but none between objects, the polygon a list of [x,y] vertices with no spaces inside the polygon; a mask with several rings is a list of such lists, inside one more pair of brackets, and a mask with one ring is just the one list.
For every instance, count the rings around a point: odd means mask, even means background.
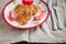
[{"label": "white oval plate with red rim, holding golden-brown food and tomatoes", "polygon": [[13,28],[16,28],[16,29],[32,29],[32,28],[36,28],[36,26],[43,24],[43,23],[47,20],[47,18],[48,18],[48,14],[50,14],[48,6],[46,6],[46,3],[43,3],[43,2],[40,3],[40,0],[34,0],[33,4],[38,6],[41,9],[43,9],[43,10],[45,11],[44,16],[43,16],[40,21],[33,21],[33,18],[32,18],[32,19],[28,22],[28,24],[25,24],[25,25],[21,25],[21,24],[20,24],[19,22],[16,22],[16,21],[10,21],[10,20],[9,20],[9,11],[10,11],[10,10],[13,10],[16,4],[22,4],[22,0],[15,0],[14,2],[13,2],[13,1],[10,1],[10,2],[8,2],[8,3],[4,6],[4,8],[3,8],[3,10],[2,10],[3,20],[4,20],[9,25],[11,25],[11,26],[13,26]]}]

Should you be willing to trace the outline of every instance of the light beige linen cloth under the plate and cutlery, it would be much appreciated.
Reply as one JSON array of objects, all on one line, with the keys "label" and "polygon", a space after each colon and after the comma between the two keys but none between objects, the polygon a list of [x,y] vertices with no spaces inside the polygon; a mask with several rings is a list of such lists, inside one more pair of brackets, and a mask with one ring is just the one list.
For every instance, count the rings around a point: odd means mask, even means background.
[{"label": "light beige linen cloth under the plate and cutlery", "polygon": [[[52,30],[52,22],[51,16],[48,20],[43,24],[43,30],[37,28],[35,30],[25,30],[20,31],[15,30],[8,24],[6,24],[2,20],[2,8],[7,2],[10,0],[0,0],[0,44],[10,44],[19,41],[28,41],[28,42],[43,42],[43,43],[63,43],[66,42],[66,0],[57,0],[58,8],[56,9],[59,23],[63,30],[53,31]],[[44,0],[47,2],[47,0]],[[48,6],[52,10],[52,2],[56,2],[56,0],[51,0]],[[53,12],[54,22],[55,15]],[[55,29],[56,29],[55,23]]]}]

